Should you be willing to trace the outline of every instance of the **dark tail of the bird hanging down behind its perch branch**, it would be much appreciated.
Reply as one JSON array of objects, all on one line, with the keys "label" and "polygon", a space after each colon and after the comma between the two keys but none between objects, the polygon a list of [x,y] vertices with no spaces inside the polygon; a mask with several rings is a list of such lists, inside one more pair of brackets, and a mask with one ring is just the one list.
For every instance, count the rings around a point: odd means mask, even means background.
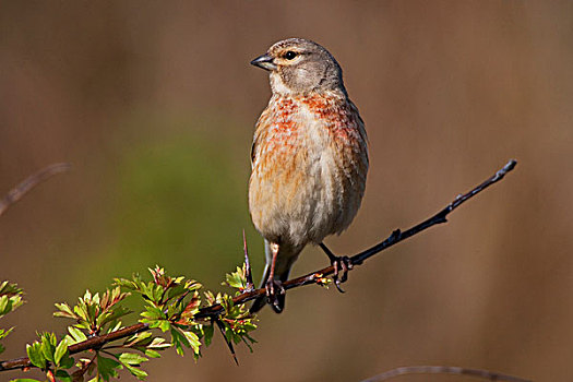
[{"label": "dark tail of the bird hanging down behind its perch branch", "polygon": [[[265,249],[265,255],[266,255],[266,265],[264,267],[263,278],[261,279],[260,288],[264,288],[266,285],[266,282],[268,280],[268,274],[271,273],[271,264],[273,261],[273,254],[271,252],[271,247],[268,241],[264,241],[264,249]],[[288,280],[288,275],[290,273],[290,268],[293,267],[293,264],[297,260],[300,251],[302,250],[302,247],[290,247],[290,246],[282,246],[278,249],[278,255],[276,258],[276,264],[275,264],[275,279],[279,280],[282,283]],[[285,309],[285,294],[277,294],[276,296],[277,301],[276,303],[270,303],[270,306],[273,308],[275,313],[280,313]],[[259,296],[253,305],[251,306],[251,313],[255,313],[260,311],[265,305],[266,301],[266,295]]]}]

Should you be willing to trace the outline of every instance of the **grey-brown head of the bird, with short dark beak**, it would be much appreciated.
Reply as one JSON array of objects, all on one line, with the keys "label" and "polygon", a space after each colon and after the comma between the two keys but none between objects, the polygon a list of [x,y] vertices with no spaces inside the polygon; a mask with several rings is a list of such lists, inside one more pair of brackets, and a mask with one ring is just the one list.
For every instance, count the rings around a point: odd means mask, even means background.
[{"label": "grey-brown head of the bird, with short dark beak", "polygon": [[308,39],[278,41],[251,64],[271,72],[273,93],[307,94],[337,89],[346,94],[338,62],[326,49]]}]

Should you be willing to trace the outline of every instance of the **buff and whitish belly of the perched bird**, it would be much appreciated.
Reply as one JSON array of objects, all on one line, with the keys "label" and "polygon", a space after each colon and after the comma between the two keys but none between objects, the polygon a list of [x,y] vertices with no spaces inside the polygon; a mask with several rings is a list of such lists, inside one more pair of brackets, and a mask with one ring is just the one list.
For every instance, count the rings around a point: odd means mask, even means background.
[{"label": "buff and whitish belly of the perched bird", "polygon": [[320,243],[347,228],[363,184],[357,188],[339,156],[332,145],[317,142],[261,157],[249,192],[255,228],[270,241],[296,246]]}]

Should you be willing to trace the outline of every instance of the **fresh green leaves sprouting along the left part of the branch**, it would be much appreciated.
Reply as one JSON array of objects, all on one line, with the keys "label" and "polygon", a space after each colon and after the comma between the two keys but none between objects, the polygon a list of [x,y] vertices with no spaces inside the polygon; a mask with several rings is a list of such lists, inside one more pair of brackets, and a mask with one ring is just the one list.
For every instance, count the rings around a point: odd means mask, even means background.
[{"label": "fresh green leaves sprouting along the left part of the branch", "polygon": [[[215,326],[219,327],[234,356],[232,344],[243,342],[251,349],[254,339],[249,333],[256,326],[254,317],[244,306],[235,306],[232,297],[227,294],[202,291],[202,285],[193,279],[168,276],[163,267],[150,268],[150,273],[151,280],[144,280],[138,274],[131,279],[116,278],[112,288],[102,295],[86,290],[73,307],[65,302],[56,303],[53,315],[73,320],[74,323],[68,326],[68,334],[60,341],[53,333],[38,333],[39,339],[26,346],[32,365],[46,372],[49,382],[109,381],[119,378],[120,370],[144,380],[147,373],[141,366],[151,358],[159,358],[159,351],[169,347],[174,347],[180,356],[184,355],[186,348],[191,349],[196,360],[203,344],[211,344]],[[246,266],[237,267],[237,272],[226,276],[226,284],[240,294],[247,286],[244,275]],[[22,291],[13,287],[8,290],[13,299],[2,305],[4,299],[1,297],[0,308],[11,305],[13,310],[21,303],[17,296]],[[123,306],[131,295],[144,301],[139,314],[139,321],[145,324],[141,332],[91,346],[84,356],[77,350],[70,351],[70,347],[73,349],[92,338],[126,329],[120,320],[132,313]],[[208,305],[220,305],[223,311],[198,318],[202,300]],[[13,382],[29,381],[35,380],[19,379]]]}]

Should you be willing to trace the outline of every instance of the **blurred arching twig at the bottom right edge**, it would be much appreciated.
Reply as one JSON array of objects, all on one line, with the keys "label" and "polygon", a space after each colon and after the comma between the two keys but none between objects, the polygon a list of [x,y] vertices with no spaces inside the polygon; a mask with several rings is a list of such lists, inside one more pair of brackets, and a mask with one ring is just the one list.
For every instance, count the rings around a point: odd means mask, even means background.
[{"label": "blurred arching twig at the bottom right edge", "polygon": [[382,374],[374,375],[362,382],[380,382],[386,381],[391,378],[406,374],[455,374],[455,375],[469,375],[481,378],[490,381],[506,381],[506,382],[530,382],[518,377],[502,374],[494,371],[488,371],[482,369],[465,369],[457,368],[454,366],[406,366],[403,368],[396,368],[383,372]]}]

